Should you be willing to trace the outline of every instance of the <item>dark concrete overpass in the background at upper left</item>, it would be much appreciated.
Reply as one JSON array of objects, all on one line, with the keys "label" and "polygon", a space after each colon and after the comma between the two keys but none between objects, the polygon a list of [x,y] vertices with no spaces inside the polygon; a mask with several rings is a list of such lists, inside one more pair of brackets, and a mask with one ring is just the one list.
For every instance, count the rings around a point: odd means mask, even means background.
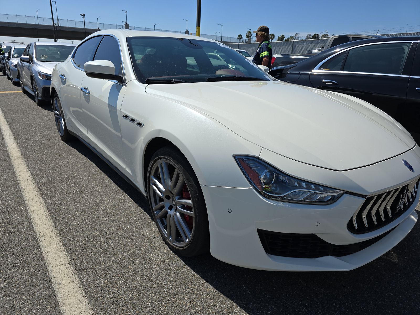
[{"label": "dark concrete overpass in the background at upper left", "polygon": [[[86,36],[97,32],[98,29],[86,29]],[[79,27],[56,26],[58,39],[82,40],[85,38],[84,29]],[[28,24],[16,22],[1,22],[0,33],[2,36],[54,38],[52,25]]]}]

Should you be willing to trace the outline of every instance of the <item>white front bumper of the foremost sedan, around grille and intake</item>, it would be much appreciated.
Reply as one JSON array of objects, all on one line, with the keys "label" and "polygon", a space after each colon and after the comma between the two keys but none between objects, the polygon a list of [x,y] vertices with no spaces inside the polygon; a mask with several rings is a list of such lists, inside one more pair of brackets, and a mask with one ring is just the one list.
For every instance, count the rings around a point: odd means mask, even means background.
[{"label": "white front bumper of the foremost sedan, around grille and intake", "polygon": [[[370,195],[402,186],[418,178],[420,174],[418,149],[416,147],[415,150],[362,168],[365,169],[362,173],[360,169],[346,171],[346,174],[336,172],[347,178],[347,182],[342,178],[342,189],[349,191],[345,188],[358,186],[360,194],[363,194],[363,189],[368,189],[371,193],[366,195]],[[417,158],[414,158],[416,155]],[[409,158],[410,162],[415,164],[417,173],[404,172],[404,169],[399,168],[400,164],[404,166],[401,163],[402,158]],[[387,173],[384,174],[385,169]],[[331,172],[334,171],[325,169],[323,171],[328,171],[326,176],[330,177],[331,181],[337,181],[332,177]],[[314,174],[314,172],[309,173]],[[376,174],[376,180],[369,176],[371,173]],[[361,174],[365,175],[360,176]],[[328,182],[323,184],[328,185]],[[365,201],[364,197],[346,193],[331,205],[304,205],[265,199],[253,188],[204,185],[201,187],[209,216],[211,254],[233,265],[262,270],[344,271],[365,265],[393,248],[411,231],[417,221],[415,207],[420,196],[418,191],[412,205],[386,226],[364,234],[353,234],[347,229],[347,223]],[[340,186],[334,187],[340,188]],[[367,248],[349,255],[294,258],[267,254],[257,230],[315,234],[323,241],[335,245],[360,243],[389,233]]]}]

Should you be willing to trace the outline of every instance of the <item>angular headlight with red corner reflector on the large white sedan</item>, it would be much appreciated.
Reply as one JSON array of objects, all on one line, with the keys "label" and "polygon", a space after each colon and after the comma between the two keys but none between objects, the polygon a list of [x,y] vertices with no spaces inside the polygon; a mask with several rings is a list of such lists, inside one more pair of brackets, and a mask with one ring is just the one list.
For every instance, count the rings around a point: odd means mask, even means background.
[{"label": "angular headlight with red corner reflector on the large white sedan", "polygon": [[235,159],[249,183],[269,199],[325,205],[344,194],[341,190],[291,177],[257,157],[236,156]]}]

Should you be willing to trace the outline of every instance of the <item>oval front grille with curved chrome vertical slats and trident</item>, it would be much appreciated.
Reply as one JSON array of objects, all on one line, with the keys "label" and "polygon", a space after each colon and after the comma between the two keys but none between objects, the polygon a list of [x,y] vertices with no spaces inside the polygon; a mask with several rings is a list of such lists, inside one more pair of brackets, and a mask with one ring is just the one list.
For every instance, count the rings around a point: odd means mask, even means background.
[{"label": "oval front grille with curved chrome vertical slats and trident", "polygon": [[347,223],[347,229],[362,234],[386,226],[413,204],[418,185],[416,178],[405,186],[367,197]]}]

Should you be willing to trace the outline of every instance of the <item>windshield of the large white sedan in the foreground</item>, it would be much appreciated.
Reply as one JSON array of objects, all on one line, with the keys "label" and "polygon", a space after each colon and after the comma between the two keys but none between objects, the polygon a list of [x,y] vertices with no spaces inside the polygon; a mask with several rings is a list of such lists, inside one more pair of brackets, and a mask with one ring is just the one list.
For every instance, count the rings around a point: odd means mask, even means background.
[{"label": "windshield of the large white sedan in the foreground", "polygon": [[134,72],[142,83],[270,80],[250,60],[217,42],[128,37],[127,43]]}]

